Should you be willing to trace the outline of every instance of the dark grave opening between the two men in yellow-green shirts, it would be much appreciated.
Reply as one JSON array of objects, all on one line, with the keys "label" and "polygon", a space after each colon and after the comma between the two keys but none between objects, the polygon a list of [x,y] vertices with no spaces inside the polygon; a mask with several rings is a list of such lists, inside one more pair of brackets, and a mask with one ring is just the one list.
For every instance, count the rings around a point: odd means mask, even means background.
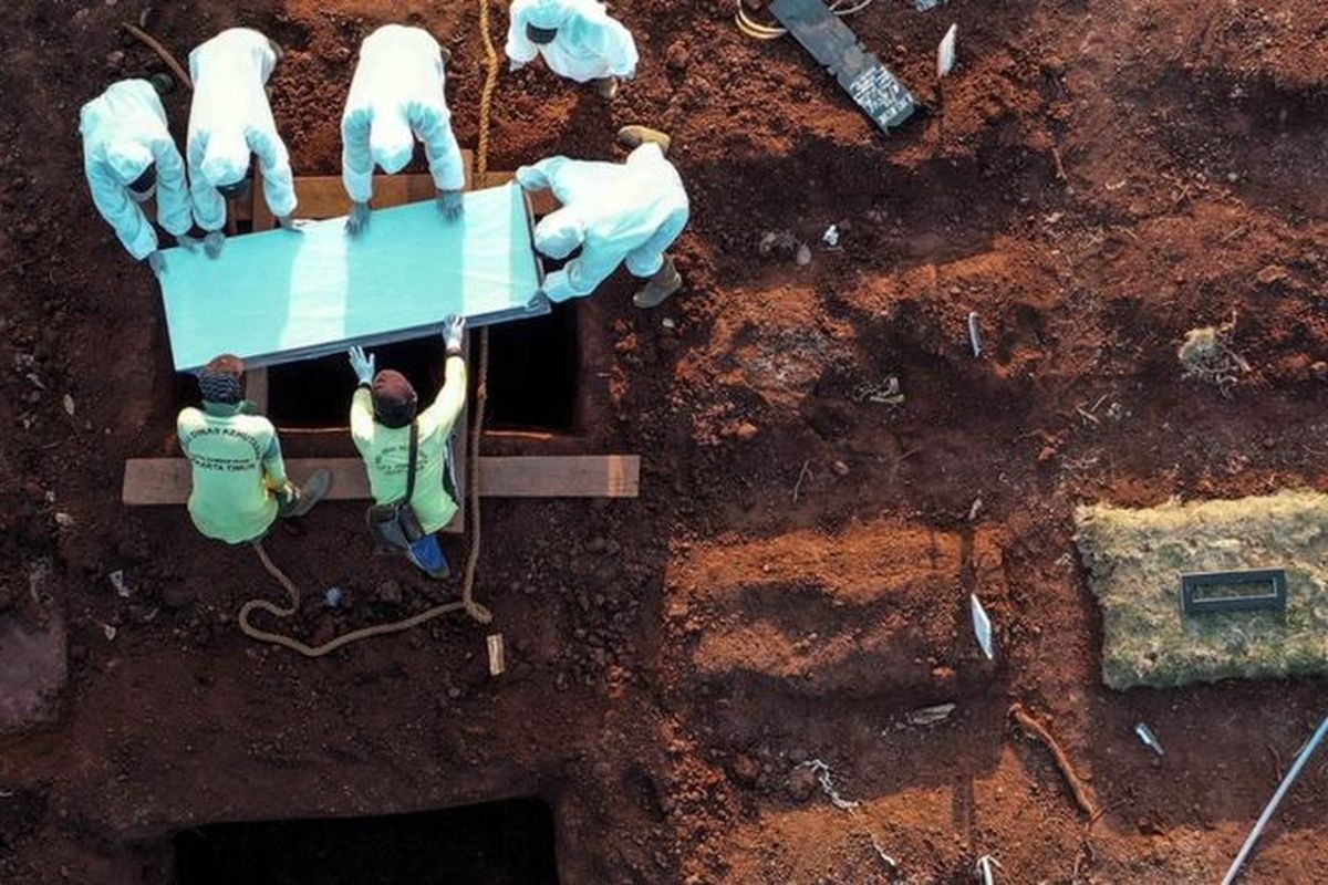
[{"label": "dark grave opening between the two men in yellow-green shirts", "polygon": [[[377,369],[396,369],[414,385],[421,409],[442,389],[446,346],[441,334],[365,348]],[[345,353],[267,370],[268,417],[282,427],[344,427],[356,378]]]}]

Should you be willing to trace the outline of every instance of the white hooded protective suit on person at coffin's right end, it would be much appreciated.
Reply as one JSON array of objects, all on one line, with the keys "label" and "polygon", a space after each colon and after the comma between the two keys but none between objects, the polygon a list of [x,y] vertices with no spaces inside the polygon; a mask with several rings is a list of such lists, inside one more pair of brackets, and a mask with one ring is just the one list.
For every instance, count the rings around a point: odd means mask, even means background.
[{"label": "white hooded protective suit on person at coffin's right end", "polygon": [[517,170],[530,191],[552,190],[563,206],[535,226],[535,248],[555,259],[582,253],[544,279],[550,301],[590,295],[619,264],[649,277],[687,227],[683,179],[659,145],[633,150],[625,163],[550,157]]}]

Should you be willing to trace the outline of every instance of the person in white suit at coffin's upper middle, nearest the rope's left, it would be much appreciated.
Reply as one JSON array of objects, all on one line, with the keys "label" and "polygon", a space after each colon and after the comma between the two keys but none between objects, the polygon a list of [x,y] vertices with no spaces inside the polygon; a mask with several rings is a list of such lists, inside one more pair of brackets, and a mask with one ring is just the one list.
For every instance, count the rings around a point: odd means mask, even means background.
[{"label": "person in white suit at coffin's upper middle, nearest the rope's left", "polygon": [[445,64],[438,41],[420,28],[385,25],[361,44],[341,114],[341,179],[351,195],[345,224],[351,235],[369,223],[374,163],[389,175],[400,172],[417,139],[424,142],[438,188],[438,210],[449,220],[461,215],[466,175],[444,96]]}]

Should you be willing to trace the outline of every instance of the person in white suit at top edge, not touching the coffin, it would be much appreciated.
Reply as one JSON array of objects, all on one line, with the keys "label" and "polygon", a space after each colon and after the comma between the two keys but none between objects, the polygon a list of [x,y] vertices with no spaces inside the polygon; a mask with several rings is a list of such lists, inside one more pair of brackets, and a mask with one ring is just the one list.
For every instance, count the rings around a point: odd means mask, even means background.
[{"label": "person in white suit at top edge, not touching the coffin", "polygon": [[618,78],[636,74],[636,42],[599,0],[513,0],[507,27],[511,69],[543,56],[548,69],[599,94],[618,94]]}]

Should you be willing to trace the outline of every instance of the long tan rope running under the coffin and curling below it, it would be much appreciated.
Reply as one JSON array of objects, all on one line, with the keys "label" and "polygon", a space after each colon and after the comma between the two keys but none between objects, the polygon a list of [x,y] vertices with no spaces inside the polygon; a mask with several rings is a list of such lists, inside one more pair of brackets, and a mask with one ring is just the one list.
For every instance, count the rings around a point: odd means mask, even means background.
[{"label": "long tan rope running under the coffin and curling below it", "polygon": [[[478,187],[483,187],[489,174],[489,113],[493,107],[493,96],[494,89],[498,86],[499,72],[498,52],[494,49],[493,34],[489,31],[489,0],[479,0],[479,34],[485,44],[486,72],[485,86],[479,98],[479,135],[475,145],[475,183]],[[319,646],[305,645],[299,640],[293,640],[279,633],[268,633],[267,630],[260,630],[250,624],[250,612],[254,612],[255,609],[267,612],[268,614],[279,618],[291,617],[300,609],[299,588],[296,588],[295,582],[287,577],[275,563],[272,563],[267,551],[263,548],[263,541],[260,539],[254,541],[254,551],[258,553],[258,557],[263,563],[263,568],[267,569],[268,575],[276,579],[276,581],[286,589],[288,604],[282,606],[275,602],[268,602],[267,600],[250,600],[246,602],[240,608],[239,614],[239,625],[244,636],[260,642],[274,642],[309,658],[319,658],[329,651],[340,649],[344,645],[359,642],[360,640],[409,630],[410,628],[418,626],[425,621],[432,621],[440,614],[446,614],[449,612],[463,610],[479,624],[489,624],[494,620],[493,613],[474,600],[475,568],[479,564],[479,441],[485,425],[485,401],[487,399],[486,382],[489,378],[489,329],[479,330],[478,350],[479,375],[478,382],[475,383],[475,414],[470,429],[470,450],[466,452],[466,458],[469,459],[467,474],[470,475],[469,488],[466,490],[466,494],[470,498],[470,551],[466,555],[466,571],[461,582],[461,600],[456,602],[445,602],[444,605],[436,605],[432,609],[413,614],[404,621],[374,624],[373,626],[351,630],[349,633],[343,633],[341,636]]]}]

